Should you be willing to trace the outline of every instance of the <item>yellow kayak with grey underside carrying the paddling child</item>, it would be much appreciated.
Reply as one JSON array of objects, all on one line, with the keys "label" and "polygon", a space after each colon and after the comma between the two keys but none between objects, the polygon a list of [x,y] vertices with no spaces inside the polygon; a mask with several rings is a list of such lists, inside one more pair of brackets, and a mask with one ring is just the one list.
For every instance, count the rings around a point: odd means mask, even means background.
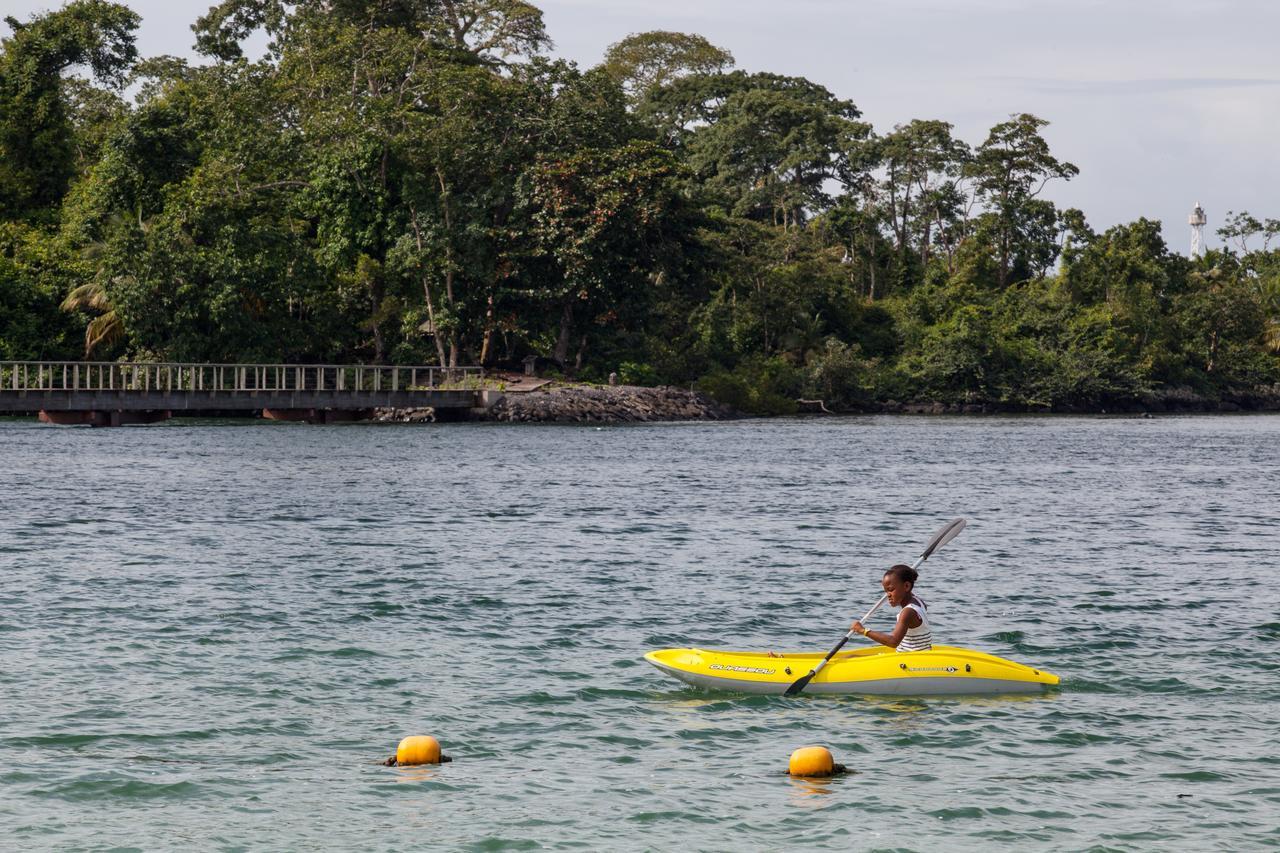
[{"label": "yellow kayak with grey underside carrying the paddling child", "polygon": [[[659,670],[708,690],[783,693],[818,665],[824,652],[721,652],[664,648],[645,654]],[[887,646],[841,652],[805,693],[873,695],[974,695],[1039,693],[1059,683],[1052,672],[955,646],[895,652]]]}]

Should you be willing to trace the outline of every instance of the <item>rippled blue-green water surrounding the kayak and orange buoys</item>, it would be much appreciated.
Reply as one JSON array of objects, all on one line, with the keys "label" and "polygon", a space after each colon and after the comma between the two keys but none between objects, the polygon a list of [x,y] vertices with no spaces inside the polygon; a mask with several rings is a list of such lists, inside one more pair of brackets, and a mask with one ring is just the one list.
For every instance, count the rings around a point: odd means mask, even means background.
[{"label": "rippled blue-green water surrounding the kayak and orange buoys", "polygon": [[[1277,437],[0,421],[0,847],[1275,849]],[[745,697],[643,660],[826,649],[955,516],[934,639],[1061,689]],[[410,734],[453,763],[381,766]],[[814,743],[851,772],[787,777]]]}]

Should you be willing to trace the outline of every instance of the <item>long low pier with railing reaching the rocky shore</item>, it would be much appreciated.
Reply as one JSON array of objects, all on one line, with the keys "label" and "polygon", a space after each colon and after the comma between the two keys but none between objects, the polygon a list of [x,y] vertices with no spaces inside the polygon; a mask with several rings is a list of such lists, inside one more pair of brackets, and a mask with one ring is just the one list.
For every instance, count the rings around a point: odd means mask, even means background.
[{"label": "long low pier with railing reaching the rocky shore", "polygon": [[0,415],[115,426],[209,414],[329,423],[430,407],[461,419],[489,405],[483,377],[472,366],[0,361]]}]

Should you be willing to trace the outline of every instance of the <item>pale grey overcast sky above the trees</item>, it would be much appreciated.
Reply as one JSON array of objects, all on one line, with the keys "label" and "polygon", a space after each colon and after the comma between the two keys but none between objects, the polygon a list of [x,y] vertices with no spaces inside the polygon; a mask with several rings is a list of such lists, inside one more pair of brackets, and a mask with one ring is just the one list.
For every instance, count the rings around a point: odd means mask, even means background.
[{"label": "pale grey overcast sky above the trees", "polygon": [[[207,0],[127,0],[143,55],[191,54]],[[1187,216],[1280,218],[1277,0],[534,0],[552,51],[584,67],[632,32],[696,32],[745,70],[806,77],[878,132],[951,122],[978,145],[1012,113],[1051,122],[1053,154],[1080,168],[1046,191],[1097,231]],[[0,0],[26,19],[56,0]],[[6,27],[0,24],[0,32]]]}]

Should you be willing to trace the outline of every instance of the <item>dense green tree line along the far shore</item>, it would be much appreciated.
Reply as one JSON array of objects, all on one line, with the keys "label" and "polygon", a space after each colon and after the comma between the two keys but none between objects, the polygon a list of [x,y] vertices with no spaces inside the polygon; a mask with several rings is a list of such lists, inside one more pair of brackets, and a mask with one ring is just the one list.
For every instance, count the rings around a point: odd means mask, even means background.
[{"label": "dense green tree line along the far shore", "polygon": [[673,32],[581,69],[524,0],[224,0],[198,65],[108,0],[6,23],[0,359],[538,355],[778,412],[1280,379],[1280,222],[1096,233],[1034,115],[877,132]]}]

